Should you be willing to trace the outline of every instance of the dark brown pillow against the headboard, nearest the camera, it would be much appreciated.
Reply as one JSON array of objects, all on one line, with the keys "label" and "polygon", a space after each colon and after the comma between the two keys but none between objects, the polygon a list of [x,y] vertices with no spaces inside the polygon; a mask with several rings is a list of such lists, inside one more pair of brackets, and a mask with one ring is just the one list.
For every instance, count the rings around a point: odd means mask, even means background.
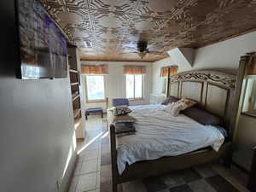
[{"label": "dark brown pillow against the headboard, nearest the camera", "polygon": [[220,118],[202,108],[186,108],[182,113],[202,125],[221,125],[222,123]]}]

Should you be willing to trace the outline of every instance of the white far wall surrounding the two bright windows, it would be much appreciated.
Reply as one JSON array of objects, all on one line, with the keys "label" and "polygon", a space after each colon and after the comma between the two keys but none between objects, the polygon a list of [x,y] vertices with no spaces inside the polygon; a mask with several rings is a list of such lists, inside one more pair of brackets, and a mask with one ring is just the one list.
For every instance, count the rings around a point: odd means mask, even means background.
[{"label": "white far wall surrounding the two bright windows", "polygon": [[[83,65],[93,65],[93,64],[107,64],[108,65],[108,75],[105,77],[105,90],[106,96],[109,99],[109,105],[112,106],[113,98],[125,98],[126,88],[125,88],[125,75],[123,74],[124,65],[136,65],[136,66],[146,66],[146,74],[144,77],[144,90],[143,90],[143,101],[131,101],[131,105],[136,104],[148,104],[149,96],[151,93],[152,85],[152,63],[150,62],[114,62],[114,61],[81,61]],[[85,75],[83,81],[85,81]],[[85,89],[84,89],[85,91]],[[84,96],[86,93],[84,92]],[[86,103],[85,108],[96,108],[102,107],[106,108],[106,103]]]}]

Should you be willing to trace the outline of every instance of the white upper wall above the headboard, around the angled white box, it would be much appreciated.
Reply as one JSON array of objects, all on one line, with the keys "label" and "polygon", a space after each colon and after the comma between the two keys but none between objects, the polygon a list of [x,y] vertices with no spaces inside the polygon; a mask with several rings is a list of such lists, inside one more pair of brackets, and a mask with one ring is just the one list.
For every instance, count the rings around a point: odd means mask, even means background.
[{"label": "white upper wall above the headboard, around the angled white box", "polygon": [[[241,55],[256,50],[256,32],[250,32],[217,44],[195,50],[193,67],[179,66],[178,72],[212,69],[236,74]],[[160,79],[160,67],[176,65],[171,57],[153,63],[153,92],[160,93],[163,80]]]}]

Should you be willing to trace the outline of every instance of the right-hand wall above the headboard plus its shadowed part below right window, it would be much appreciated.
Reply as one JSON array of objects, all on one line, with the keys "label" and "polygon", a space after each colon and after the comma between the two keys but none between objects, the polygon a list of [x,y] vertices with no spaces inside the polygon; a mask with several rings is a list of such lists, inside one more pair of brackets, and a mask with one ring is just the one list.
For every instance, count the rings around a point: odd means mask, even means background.
[{"label": "right-hand wall above the headboard plus its shadowed part below right window", "polygon": [[[256,50],[256,32],[247,33],[217,44],[208,45],[195,50],[193,67],[179,66],[178,72],[189,70],[212,69],[225,73],[237,73],[240,56]],[[171,57],[153,63],[153,93],[160,93],[164,85],[160,79],[160,67],[176,65]],[[250,170],[253,158],[253,146],[256,145],[256,119],[240,116],[237,140],[235,143],[234,161]]]}]

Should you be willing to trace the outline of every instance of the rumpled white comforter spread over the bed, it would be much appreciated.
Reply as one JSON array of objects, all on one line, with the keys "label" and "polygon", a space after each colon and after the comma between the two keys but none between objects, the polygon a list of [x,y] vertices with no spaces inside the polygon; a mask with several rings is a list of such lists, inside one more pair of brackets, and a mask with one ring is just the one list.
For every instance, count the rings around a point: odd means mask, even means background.
[{"label": "rumpled white comforter spread over the bed", "polygon": [[183,114],[173,117],[163,108],[131,107],[131,115],[137,118],[137,133],[117,139],[119,174],[124,172],[126,163],[185,154],[208,146],[218,151],[224,143],[224,136],[215,127],[201,125]]}]

